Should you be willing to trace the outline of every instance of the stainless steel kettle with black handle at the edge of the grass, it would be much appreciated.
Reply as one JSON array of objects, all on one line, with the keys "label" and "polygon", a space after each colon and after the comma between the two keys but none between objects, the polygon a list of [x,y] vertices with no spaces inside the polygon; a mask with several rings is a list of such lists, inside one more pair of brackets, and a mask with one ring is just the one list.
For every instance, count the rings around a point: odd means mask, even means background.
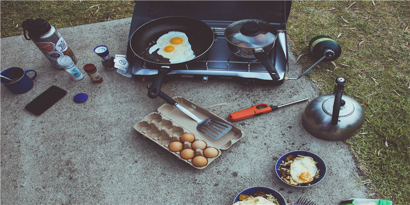
[{"label": "stainless steel kettle with black handle at the edge of the grass", "polygon": [[364,122],[364,111],[353,98],[344,96],[346,79],[335,79],[333,94],[313,99],[302,115],[304,129],[314,137],[329,141],[346,140],[355,135]]}]

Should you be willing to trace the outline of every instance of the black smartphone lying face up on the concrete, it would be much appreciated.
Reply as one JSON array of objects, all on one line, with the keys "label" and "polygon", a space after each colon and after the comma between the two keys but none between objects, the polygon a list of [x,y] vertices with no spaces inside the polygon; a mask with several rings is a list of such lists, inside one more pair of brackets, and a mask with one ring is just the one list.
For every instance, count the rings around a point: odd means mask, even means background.
[{"label": "black smartphone lying face up on the concrete", "polygon": [[42,94],[34,98],[25,108],[34,115],[41,115],[66,94],[67,91],[57,86],[51,86]]}]

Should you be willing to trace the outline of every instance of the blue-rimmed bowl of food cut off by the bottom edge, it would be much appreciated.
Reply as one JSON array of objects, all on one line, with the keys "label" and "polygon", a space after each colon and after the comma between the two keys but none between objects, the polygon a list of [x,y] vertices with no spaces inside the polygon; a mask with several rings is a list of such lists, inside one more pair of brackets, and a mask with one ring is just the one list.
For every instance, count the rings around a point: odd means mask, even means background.
[{"label": "blue-rimmed bowl of food cut off by the bottom edge", "polygon": [[241,191],[236,195],[234,205],[242,204],[272,204],[272,205],[286,205],[283,196],[268,187],[251,187]]}]

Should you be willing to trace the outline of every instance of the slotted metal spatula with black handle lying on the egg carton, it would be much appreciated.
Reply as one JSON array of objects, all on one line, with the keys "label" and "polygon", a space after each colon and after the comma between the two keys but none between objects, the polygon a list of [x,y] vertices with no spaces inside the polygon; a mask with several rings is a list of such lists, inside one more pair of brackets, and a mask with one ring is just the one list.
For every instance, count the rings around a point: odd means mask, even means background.
[{"label": "slotted metal spatula with black handle lying on the egg carton", "polygon": [[168,96],[167,94],[163,93],[162,91],[159,91],[158,96],[162,99],[164,99],[165,101],[167,101],[167,103],[175,106],[176,108],[178,108],[180,111],[182,111],[183,113],[187,114],[188,116],[190,116],[192,119],[194,119],[195,121],[198,122],[198,126],[196,126],[196,129],[199,130],[200,132],[202,132],[203,134],[207,135],[208,137],[211,137],[212,139],[219,139],[221,138],[223,135],[227,134],[231,129],[232,126],[215,120],[215,119],[199,119],[197,116],[195,116],[192,112],[188,111],[186,108],[182,107],[181,105],[179,105],[177,103],[177,101],[175,101],[174,99],[172,99],[170,96]]}]

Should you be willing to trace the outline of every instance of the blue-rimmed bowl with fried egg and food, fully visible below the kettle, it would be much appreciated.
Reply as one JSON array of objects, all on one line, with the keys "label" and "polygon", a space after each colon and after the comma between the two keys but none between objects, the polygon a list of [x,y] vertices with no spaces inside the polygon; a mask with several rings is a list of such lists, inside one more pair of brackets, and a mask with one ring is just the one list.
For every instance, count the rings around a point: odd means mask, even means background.
[{"label": "blue-rimmed bowl with fried egg and food, fully visible below the kettle", "polygon": [[326,164],[318,155],[308,151],[292,151],[276,162],[276,174],[293,187],[310,187],[326,175]]}]

